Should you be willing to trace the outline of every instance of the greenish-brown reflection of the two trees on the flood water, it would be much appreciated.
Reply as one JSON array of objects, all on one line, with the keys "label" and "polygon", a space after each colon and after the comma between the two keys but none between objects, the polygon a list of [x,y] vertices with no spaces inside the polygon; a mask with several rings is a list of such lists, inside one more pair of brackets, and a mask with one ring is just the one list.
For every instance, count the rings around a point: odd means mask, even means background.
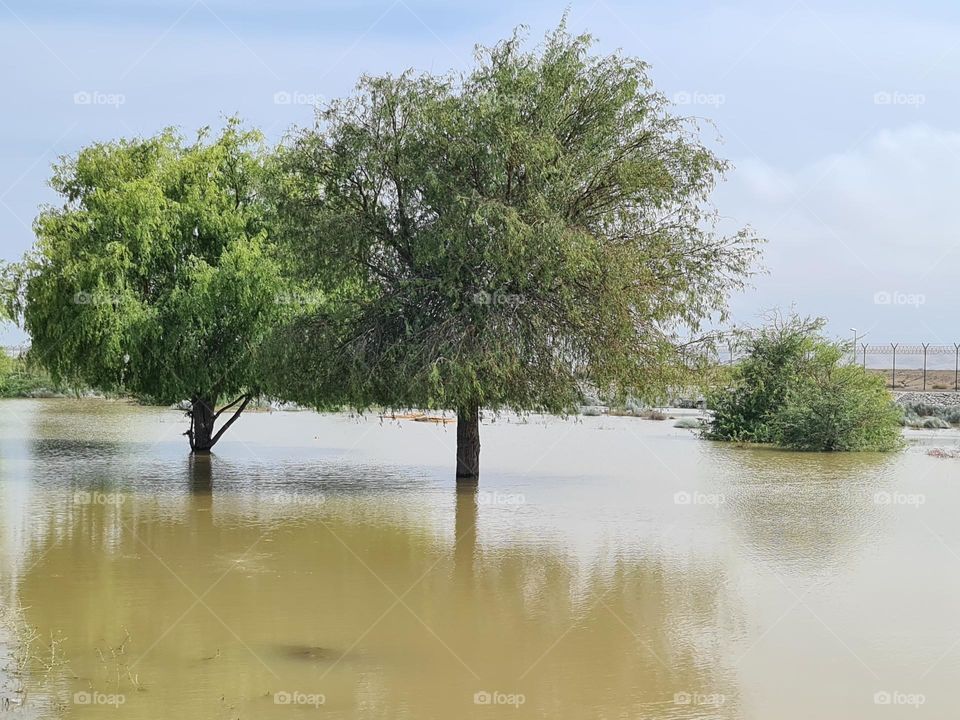
[{"label": "greenish-brown reflection of the two trees on the flood water", "polygon": [[67,716],[115,710],[77,693],[122,696],[124,717],[291,716],[278,693],[344,718],[489,717],[488,697],[516,718],[702,716],[683,693],[735,712],[716,565],[486,545],[476,486],[382,467],[41,434],[6,580],[67,638]]}]

